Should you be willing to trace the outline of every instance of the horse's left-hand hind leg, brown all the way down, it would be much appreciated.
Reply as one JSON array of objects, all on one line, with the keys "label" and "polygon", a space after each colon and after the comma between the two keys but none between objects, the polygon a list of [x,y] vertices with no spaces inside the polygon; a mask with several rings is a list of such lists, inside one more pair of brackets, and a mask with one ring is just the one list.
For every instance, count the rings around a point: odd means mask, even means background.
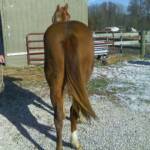
[{"label": "horse's left-hand hind leg, brown all the way down", "polygon": [[57,132],[56,150],[62,150],[62,128],[63,128],[63,85],[62,81],[57,80],[50,88],[50,96],[54,108],[54,123]]}]

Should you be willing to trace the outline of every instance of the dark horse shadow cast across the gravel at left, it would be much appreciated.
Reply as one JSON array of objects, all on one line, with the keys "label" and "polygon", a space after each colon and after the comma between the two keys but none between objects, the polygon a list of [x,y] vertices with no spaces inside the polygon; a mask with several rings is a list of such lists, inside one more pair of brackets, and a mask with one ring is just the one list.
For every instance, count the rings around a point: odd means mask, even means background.
[{"label": "dark horse shadow cast across the gravel at left", "polygon": [[[14,81],[18,80],[21,79],[12,77],[4,78],[5,89],[0,94],[0,114],[6,117],[25,138],[35,145],[35,147],[43,150],[40,144],[31,137],[23,125],[36,129],[51,140],[56,141],[56,137],[50,134],[50,132],[55,131],[55,129],[39,123],[28,106],[32,104],[43,111],[49,112],[51,115],[53,115],[53,109],[40,97],[14,83]],[[63,145],[70,147],[70,144],[66,142],[63,142]]]}]

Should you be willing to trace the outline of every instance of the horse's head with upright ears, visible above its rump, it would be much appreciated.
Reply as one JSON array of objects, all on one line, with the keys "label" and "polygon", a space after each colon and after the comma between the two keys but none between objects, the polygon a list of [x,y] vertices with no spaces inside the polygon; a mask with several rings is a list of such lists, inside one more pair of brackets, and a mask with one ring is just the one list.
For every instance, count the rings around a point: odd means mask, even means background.
[{"label": "horse's head with upright ears, visible above its rump", "polygon": [[57,5],[56,11],[53,15],[52,22],[66,22],[70,20],[70,14],[68,13],[68,4],[63,7]]}]

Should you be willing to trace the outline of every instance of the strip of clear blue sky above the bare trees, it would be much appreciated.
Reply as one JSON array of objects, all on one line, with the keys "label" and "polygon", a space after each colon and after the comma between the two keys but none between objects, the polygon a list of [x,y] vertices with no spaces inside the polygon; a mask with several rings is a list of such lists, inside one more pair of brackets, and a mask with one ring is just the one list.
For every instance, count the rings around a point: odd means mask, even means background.
[{"label": "strip of clear blue sky above the bare trees", "polygon": [[88,0],[88,4],[96,4],[96,3],[102,3],[102,2],[107,2],[107,1],[111,1],[114,3],[120,3],[124,6],[128,6],[129,0]]}]

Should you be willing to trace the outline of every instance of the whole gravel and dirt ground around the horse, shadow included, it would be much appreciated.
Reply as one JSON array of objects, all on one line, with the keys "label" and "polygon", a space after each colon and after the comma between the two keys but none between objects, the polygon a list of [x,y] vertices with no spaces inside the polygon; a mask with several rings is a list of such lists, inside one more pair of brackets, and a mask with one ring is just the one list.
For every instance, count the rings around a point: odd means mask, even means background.
[{"label": "whole gravel and dirt ground around the horse, shadow included", "polygon": [[[126,72],[131,70],[132,73],[137,74],[133,68],[135,70],[145,68],[143,72],[146,75],[141,78],[131,73],[126,75]],[[145,100],[142,96],[141,99],[135,98],[136,95],[144,95],[142,90],[145,89],[138,89],[138,86],[141,87],[142,83],[146,83],[144,79],[150,75],[148,70],[150,68],[143,64],[142,66],[133,63],[111,66],[96,64],[91,78],[90,100],[98,119],[78,125],[79,139],[84,150],[150,149],[150,111],[148,111],[150,104],[147,98],[149,95],[146,97],[146,102],[142,101]],[[53,109],[43,68],[6,67],[4,74],[5,90],[0,94],[0,150],[54,150],[56,132]],[[122,78],[119,78],[120,76]],[[127,80],[131,77],[135,79],[133,82]],[[139,78],[143,82],[136,84],[136,79]],[[103,79],[109,82],[104,82]],[[99,81],[103,84],[99,84]],[[132,92],[128,90],[129,86]],[[137,94],[134,94],[134,90]],[[66,96],[64,150],[71,149],[68,119],[70,105],[71,102]],[[140,108],[139,105],[142,106],[142,111],[132,107]],[[147,109],[144,109],[145,105]]]}]

